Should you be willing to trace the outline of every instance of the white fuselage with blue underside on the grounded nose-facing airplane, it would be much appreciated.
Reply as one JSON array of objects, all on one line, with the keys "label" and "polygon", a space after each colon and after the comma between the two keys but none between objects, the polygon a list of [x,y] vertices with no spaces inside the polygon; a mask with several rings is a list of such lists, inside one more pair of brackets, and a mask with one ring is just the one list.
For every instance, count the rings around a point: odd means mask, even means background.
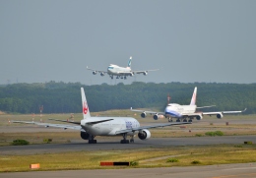
[{"label": "white fuselage with blue underside on the grounded nose-facing airplane", "polygon": [[196,105],[179,105],[170,103],[165,107],[165,115],[169,117],[181,118],[185,114],[193,114],[196,111]]}]

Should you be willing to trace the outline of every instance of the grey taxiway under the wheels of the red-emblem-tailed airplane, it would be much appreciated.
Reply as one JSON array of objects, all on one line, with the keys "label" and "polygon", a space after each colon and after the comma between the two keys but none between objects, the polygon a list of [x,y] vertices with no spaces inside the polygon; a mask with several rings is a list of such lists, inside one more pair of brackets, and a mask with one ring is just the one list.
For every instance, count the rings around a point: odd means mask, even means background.
[{"label": "grey taxiway under the wheels of the red-emblem-tailed airplane", "polygon": [[222,136],[222,137],[190,137],[190,138],[151,138],[141,141],[136,138],[134,144],[120,144],[119,137],[97,138],[97,144],[88,144],[84,140],[71,140],[67,144],[42,144],[29,146],[0,147],[0,154],[35,154],[81,150],[114,150],[135,148],[164,148],[175,146],[207,146],[221,144],[243,145],[243,142],[256,143],[256,136]]}]

